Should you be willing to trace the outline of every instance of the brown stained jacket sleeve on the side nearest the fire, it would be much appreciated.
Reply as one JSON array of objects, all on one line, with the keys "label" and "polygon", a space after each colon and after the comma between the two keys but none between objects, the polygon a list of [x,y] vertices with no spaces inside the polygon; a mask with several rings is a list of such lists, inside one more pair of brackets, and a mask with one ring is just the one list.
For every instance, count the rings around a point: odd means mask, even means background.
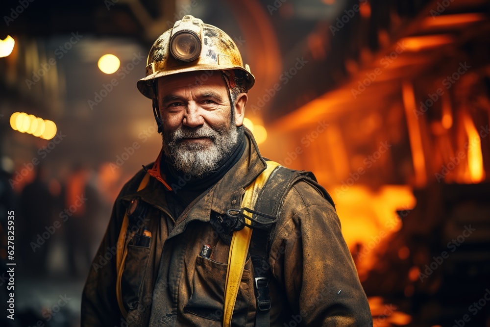
[{"label": "brown stained jacket sleeve on the side nearest the fire", "polygon": [[300,325],[372,326],[334,207],[300,181],[287,194],[279,221],[270,249],[271,271],[284,285],[294,314],[301,315]]}]

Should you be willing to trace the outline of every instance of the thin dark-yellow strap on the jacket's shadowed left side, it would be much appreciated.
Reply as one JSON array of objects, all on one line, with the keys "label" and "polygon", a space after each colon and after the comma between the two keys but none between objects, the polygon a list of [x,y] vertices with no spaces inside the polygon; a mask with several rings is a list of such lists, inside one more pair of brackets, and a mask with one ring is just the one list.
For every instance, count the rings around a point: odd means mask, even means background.
[{"label": "thin dark-yellow strap on the jacket's shadowed left side", "polygon": [[[138,186],[138,191],[143,190],[150,179],[150,175],[147,173],[143,180]],[[127,255],[127,245],[126,245],[126,232],[127,232],[128,218],[127,212],[124,213],[123,225],[121,226],[121,231],[119,232],[118,244],[117,244],[117,252],[116,252],[116,272],[117,272],[117,281],[116,281],[116,297],[118,299],[119,309],[123,314],[124,319],[127,316],[126,309],[123,304],[123,294],[121,293],[121,278],[123,277],[124,270],[124,262],[126,260]]]}]

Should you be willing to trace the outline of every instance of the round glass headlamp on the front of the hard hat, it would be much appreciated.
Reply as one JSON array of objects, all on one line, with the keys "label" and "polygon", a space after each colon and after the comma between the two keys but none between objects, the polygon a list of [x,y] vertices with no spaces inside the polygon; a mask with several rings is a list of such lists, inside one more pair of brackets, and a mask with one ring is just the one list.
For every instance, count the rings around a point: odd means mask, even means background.
[{"label": "round glass headlamp on the front of the hard hat", "polygon": [[194,31],[181,30],[172,35],[170,52],[175,59],[193,61],[201,53],[201,40]]}]

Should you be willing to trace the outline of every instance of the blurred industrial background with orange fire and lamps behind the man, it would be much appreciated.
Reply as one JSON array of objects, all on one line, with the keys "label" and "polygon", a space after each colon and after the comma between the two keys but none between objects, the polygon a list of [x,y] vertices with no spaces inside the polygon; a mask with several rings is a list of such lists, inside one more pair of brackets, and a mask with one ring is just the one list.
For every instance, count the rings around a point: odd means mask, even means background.
[{"label": "blurred industrial background with orange fire and lamps behind the man", "polygon": [[112,203],[161,147],[136,81],[187,14],[226,31],[250,65],[246,125],[262,154],[313,171],[332,195],[374,326],[490,326],[489,1],[1,8],[1,326],[79,325]]}]

